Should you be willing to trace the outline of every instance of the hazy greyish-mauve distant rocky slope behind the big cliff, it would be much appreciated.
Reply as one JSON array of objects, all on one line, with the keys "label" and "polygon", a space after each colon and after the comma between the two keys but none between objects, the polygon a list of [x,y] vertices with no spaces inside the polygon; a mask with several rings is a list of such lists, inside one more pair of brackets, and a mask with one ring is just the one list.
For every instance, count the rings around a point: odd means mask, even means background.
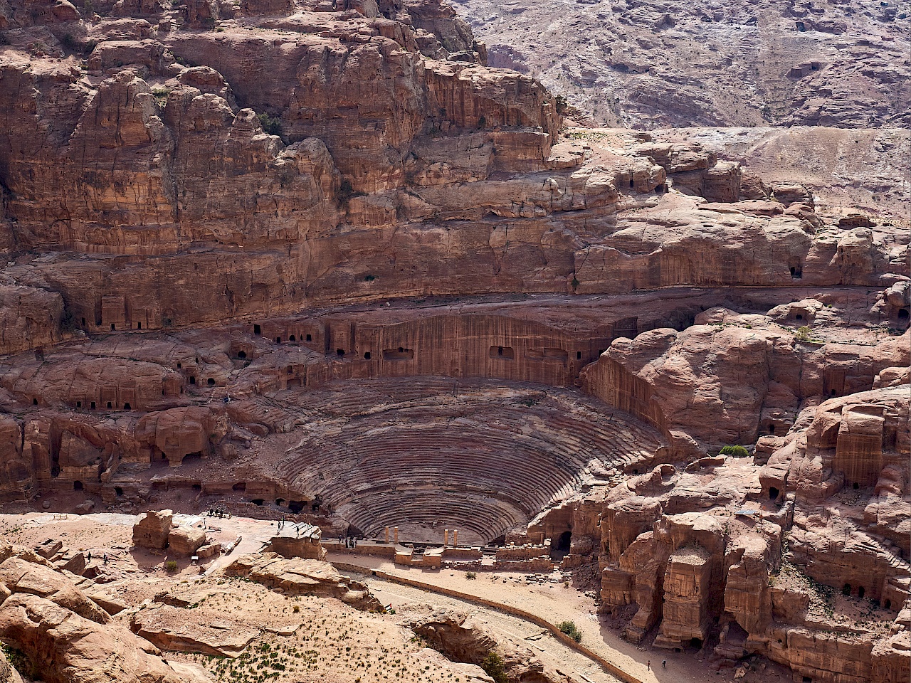
[{"label": "hazy greyish-mauve distant rocky slope behind the big cliff", "polygon": [[599,125],[906,127],[906,2],[464,0],[490,63]]}]

